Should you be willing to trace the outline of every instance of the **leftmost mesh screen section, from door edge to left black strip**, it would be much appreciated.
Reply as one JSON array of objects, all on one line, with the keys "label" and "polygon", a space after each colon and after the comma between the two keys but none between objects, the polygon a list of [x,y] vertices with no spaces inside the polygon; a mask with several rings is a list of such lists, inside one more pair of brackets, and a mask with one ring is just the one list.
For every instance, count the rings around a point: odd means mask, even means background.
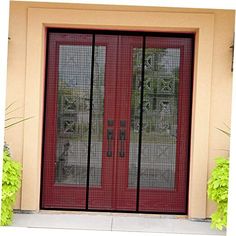
[{"label": "leftmost mesh screen section, from door edge to left black strip", "polygon": [[85,209],[92,35],[49,33],[42,206]]}]

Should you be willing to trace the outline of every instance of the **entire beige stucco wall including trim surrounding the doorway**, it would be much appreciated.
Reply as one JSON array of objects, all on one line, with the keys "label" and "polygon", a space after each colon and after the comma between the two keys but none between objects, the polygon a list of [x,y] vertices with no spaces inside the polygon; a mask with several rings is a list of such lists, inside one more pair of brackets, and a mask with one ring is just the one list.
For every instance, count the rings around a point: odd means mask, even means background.
[{"label": "entire beige stucco wall including trim surrounding the doorway", "polygon": [[15,102],[17,116],[33,116],[6,132],[14,158],[23,164],[16,208],[39,210],[44,27],[137,29],[196,33],[188,215],[209,216],[214,205],[207,201],[206,181],[229,143],[216,127],[230,124],[233,22],[233,11],[12,2],[7,104]]}]

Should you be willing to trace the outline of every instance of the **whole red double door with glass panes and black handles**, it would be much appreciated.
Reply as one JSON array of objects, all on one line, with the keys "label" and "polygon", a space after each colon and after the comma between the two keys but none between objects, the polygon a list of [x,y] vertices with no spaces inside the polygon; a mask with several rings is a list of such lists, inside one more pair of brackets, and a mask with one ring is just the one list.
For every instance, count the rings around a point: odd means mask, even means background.
[{"label": "whole red double door with glass panes and black handles", "polygon": [[42,208],[186,213],[192,45],[48,31]]}]

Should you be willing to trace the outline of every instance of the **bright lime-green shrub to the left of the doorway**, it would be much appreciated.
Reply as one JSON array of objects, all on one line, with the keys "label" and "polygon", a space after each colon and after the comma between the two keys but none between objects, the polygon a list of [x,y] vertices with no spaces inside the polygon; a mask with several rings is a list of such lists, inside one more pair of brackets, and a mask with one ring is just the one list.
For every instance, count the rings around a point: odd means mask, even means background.
[{"label": "bright lime-green shrub to the left of the doorway", "polygon": [[3,151],[1,225],[12,223],[13,204],[21,185],[21,165],[12,160],[8,147]]}]

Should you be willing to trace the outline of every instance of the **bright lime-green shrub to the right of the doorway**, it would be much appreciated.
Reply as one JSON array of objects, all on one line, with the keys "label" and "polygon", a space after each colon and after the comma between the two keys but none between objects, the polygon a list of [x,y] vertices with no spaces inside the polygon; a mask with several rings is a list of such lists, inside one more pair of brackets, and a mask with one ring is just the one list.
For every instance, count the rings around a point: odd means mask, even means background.
[{"label": "bright lime-green shrub to the right of the doorway", "polygon": [[216,212],[211,215],[211,225],[220,230],[227,225],[228,180],[229,160],[220,157],[208,181],[208,197],[217,204]]}]

